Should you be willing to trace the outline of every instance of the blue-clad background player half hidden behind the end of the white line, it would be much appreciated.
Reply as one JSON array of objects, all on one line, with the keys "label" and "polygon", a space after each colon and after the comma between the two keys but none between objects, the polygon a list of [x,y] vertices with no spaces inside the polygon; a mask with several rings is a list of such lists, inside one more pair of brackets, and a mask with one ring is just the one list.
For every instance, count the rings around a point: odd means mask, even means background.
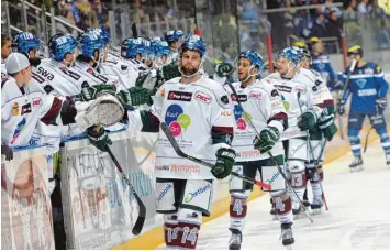
[{"label": "blue-clad background player half hidden behind the end of the white line", "polygon": [[310,37],[309,45],[313,56],[312,68],[321,74],[330,90],[339,88],[341,85],[332,68],[331,59],[328,55],[324,54],[324,45],[322,41],[316,36]]}]

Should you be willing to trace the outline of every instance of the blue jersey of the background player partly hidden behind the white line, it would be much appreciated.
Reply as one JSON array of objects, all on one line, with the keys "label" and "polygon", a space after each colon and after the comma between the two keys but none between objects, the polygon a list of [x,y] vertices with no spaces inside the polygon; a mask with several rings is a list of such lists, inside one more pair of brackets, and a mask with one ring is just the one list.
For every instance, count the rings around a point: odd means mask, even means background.
[{"label": "blue jersey of the background player partly hidden behind the white line", "polygon": [[333,90],[337,77],[332,68],[330,57],[324,54],[313,54],[311,67],[321,74],[322,78],[326,80],[327,88]]}]

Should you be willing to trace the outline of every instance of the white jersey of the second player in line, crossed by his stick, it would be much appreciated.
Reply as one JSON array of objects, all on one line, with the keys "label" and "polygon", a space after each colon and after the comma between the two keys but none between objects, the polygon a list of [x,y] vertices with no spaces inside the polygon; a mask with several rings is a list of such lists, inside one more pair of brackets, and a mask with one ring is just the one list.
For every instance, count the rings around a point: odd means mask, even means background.
[{"label": "white jersey of the second player in line, crossed by his stick", "polygon": [[[287,127],[288,124],[286,109],[281,102],[279,91],[272,85],[256,80],[248,87],[242,87],[241,83],[234,83],[232,86],[238,95],[237,98],[244,111],[256,127],[258,133],[267,126],[276,127],[280,133],[285,131],[285,126]],[[258,150],[254,149],[253,140],[256,137],[256,132],[241,110],[230,87],[225,86],[225,89],[231,95],[234,105],[236,128],[234,129],[232,148],[237,154],[235,161],[246,162],[269,159],[267,153],[260,154]],[[275,144],[271,153],[275,156],[283,154],[283,146],[280,141]]]}]

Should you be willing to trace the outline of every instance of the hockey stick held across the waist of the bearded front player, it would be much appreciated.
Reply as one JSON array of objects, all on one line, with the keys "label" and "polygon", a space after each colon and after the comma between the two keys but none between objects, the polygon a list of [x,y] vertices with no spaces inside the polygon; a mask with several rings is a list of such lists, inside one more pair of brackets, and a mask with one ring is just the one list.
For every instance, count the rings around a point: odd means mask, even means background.
[{"label": "hockey stick held across the waist of the bearded front player", "polygon": [[[170,129],[168,128],[168,126],[165,123],[165,122],[161,122],[161,129],[163,129],[163,132],[165,133],[165,135],[168,138],[170,144],[172,145],[175,152],[177,155],[181,156],[181,157],[185,157],[185,159],[188,159],[192,162],[196,162],[196,163],[199,163],[201,165],[204,165],[207,167],[210,167],[210,168],[213,168],[214,165],[209,163],[209,162],[205,162],[205,161],[202,161],[202,160],[199,160],[194,156],[191,156],[191,155],[188,155],[187,153],[182,152],[179,144],[177,143],[175,137],[172,135]],[[263,182],[259,182],[259,181],[256,181],[255,178],[252,178],[252,177],[247,177],[247,176],[244,176],[244,175],[241,175],[238,173],[235,173],[235,172],[232,172],[231,173],[233,176],[236,176],[241,179],[244,179],[245,182],[248,182],[248,183],[252,183],[256,186],[260,186],[260,187],[264,187],[264,188],[267,188],[267,189],[271,189],[271,185],[270,184],[266,184],[266,183],[263,183]]]}]

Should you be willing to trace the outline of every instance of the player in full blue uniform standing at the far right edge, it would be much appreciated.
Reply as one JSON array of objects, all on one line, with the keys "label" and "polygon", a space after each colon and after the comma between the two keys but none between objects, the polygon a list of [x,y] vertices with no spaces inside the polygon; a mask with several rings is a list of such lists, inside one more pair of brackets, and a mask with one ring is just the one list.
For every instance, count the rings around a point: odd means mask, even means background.
[{"label": "player in full blue uniform standing at the far right edge", "polygon": [[[348,48],[348,57],[357,61],[354,72],[350,73],[348,86],[337,103],[337,112],[344,114],[345,103],[352,95],[348,138],[354,160],[349,165],[352,172],[364,168],[359,132],[366,116],[376,129],[386,154],[386,164],[390,165],[390,140],[387,132],[385,110],[387,107],[387,92],[389,85],[379,65],[366,62],[363,58],[363,50],[359,45]],[[344,79],[349,74],[349,67],[344,72]]]}]

